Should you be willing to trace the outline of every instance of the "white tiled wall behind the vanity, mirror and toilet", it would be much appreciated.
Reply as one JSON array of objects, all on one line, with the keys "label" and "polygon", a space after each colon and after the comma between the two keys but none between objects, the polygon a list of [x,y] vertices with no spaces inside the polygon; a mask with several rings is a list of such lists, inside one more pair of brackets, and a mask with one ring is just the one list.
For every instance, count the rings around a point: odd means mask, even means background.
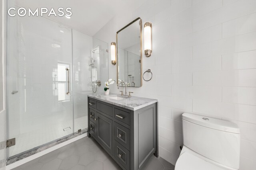
[{"label": "white tiled wall behind the vanity, mirror and toilet", "polygon": [[[153,24],[153,55],[142,59],[153,78],[128,91],[159,100],[160,156],[176,163],[181,114],[189,112],[238,123],[240,170],[256,169],[256,1],[134,0],[94,37],[116,41],[136,17]],[[109,77],[116,79],[111,63]]]}]

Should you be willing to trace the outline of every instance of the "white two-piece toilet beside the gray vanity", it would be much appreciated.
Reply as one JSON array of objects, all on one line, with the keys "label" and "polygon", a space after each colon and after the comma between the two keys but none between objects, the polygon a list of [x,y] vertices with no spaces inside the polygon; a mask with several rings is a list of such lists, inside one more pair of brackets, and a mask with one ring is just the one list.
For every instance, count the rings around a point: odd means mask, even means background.
[{"label": "white two-piece toilet beside the gray vanity", "polygon": [[182,114],[183,148],[175,170],[238,170],[240,129],[229,121]]}]

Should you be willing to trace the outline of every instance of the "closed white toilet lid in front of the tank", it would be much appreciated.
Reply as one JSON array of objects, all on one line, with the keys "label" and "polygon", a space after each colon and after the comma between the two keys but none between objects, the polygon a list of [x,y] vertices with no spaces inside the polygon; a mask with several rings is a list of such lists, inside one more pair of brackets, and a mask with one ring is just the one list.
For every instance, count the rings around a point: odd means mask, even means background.
[{"label": "closed white toilet lid in front of the tank", "polygon": [[227,170],[210,162],[207,162],[198,156],[189,152],[184,152],[178,158],[175,164],[175,170]]}]

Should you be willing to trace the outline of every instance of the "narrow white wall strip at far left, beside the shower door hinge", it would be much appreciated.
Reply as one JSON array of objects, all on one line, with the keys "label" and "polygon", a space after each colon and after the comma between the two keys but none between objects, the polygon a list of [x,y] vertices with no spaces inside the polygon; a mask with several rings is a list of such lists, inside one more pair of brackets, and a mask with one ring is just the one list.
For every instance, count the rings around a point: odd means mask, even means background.
[{"label": "narrow white wall strip at far left, beside the shower door hinge", "polygon": [[[5,43],[4,43],[4,0],[0,2],[0,143],[6,141],[6,108],[5,108]],[[0,150],[0,170],[5,170],[6,148]]]}]

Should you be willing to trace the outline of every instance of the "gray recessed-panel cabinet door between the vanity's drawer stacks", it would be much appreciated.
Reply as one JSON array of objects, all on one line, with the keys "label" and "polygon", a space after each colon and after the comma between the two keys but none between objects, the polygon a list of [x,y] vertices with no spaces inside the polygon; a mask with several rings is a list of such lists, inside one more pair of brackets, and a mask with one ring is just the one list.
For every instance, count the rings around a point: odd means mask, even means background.
[{"label": "gray recessed-panel cabinet door between the vanity's drawer stacks", "polygon": [[97,139],[113,154],[113,120],[97,112]]}]

